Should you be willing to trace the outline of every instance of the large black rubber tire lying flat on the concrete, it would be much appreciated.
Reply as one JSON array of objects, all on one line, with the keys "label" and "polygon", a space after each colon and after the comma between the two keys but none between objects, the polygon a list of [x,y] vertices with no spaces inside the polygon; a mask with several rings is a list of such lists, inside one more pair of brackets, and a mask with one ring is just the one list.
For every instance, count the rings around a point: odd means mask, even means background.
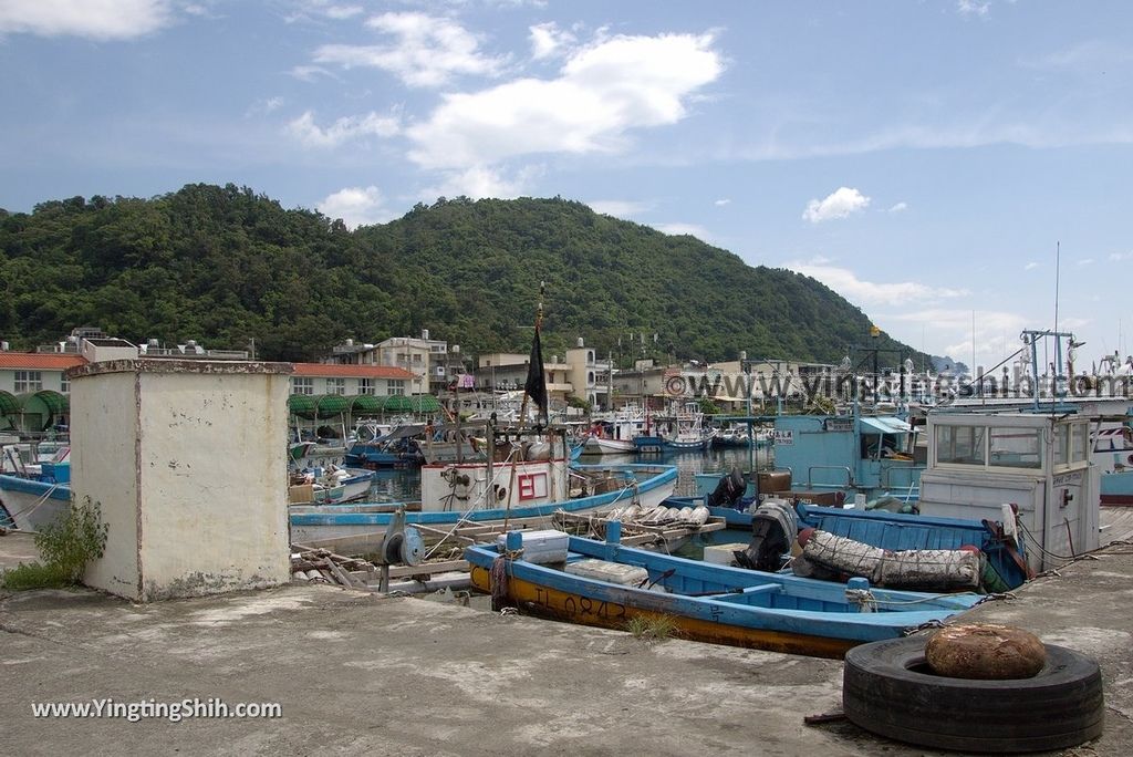
[{"label": "large black rubber tire lying flat on the concrete", "polygon": [[927,637],[850,649],[842,707],[855,725],[923,747],[964,751],[1043,751],[1101,734],[1101,670],[1072,649],[1046,645],[1034,678],[981,681],[934,675]]}]

